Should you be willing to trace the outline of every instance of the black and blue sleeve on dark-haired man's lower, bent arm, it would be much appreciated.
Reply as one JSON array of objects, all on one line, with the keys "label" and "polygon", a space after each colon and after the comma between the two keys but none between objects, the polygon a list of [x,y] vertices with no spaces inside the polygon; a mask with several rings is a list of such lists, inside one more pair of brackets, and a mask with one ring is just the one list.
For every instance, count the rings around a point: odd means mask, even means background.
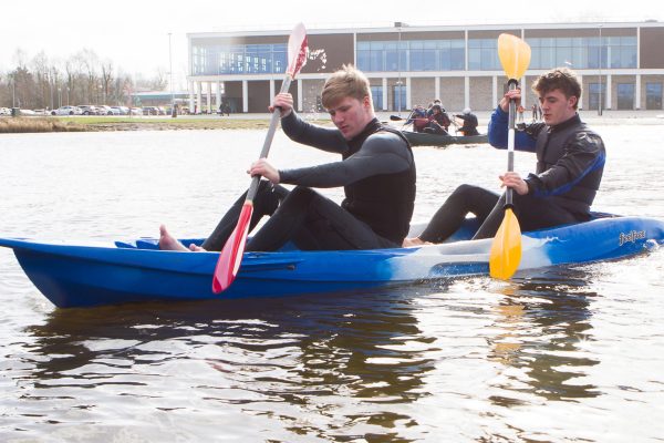
[{"label": "black and blue sleeve on dark-haired man's lower, bent arm", "polygon": [[564,154],[553,166],[526,178],[529,194],[549,197],[569,192],[605,162],[604,143],[593,132],[580,132],[566,142]]}]

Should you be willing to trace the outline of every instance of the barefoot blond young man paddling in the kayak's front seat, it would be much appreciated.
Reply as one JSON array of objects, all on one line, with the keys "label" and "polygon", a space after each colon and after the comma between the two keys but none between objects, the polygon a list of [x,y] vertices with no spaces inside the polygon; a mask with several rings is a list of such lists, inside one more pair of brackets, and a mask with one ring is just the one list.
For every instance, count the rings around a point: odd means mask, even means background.
[{"label": "barefoot blond young man paddling in the kayak's front seat", "polygon": [[[336,126],[315,126],[293,110],[293,97],[280,93],[283,132],[294,142],[338,153],[341,161],[312,167],[278,169],[266,158],[255,162],[251,176],[262,176],[253,199],[250,229],[269,215],[246,250],[278,250],[288,241],[303,250],[378,249],[400,247],[407,235],[415,202],[415,161],[403,134],[375,117],[367,78],[344,65],[324,84],[323,106]],[[288,190],[281,184],[295,185]],[[343,186],[341,206],[312,187]],[[246,194],[245,194],[246,195]],[[245,202],[240,196],[200,248],[220,250],[237,225]],[[162,249],[184,250],[160,227]]]}]

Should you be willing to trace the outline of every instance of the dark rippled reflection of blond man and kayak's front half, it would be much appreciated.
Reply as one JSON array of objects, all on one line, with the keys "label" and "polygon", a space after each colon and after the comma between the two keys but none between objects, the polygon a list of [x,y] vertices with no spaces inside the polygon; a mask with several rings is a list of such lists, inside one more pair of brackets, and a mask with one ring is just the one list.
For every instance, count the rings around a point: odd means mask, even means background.
[{"label": "dark rippled reflection of blond man and kayak's front half", "polygon": [[[423,378],[435,365],[427,357],[434,338],[418,329],[411,302],[407,292],[391,292],[261,300],[259,307],[214,301],[54,310],[28,328],[35,338],[23,359],[32,367],[30,398],[44,399],[40,391],[54,388],[77,398],[80,389],[110,384],[149,409],[168,401],[152,391],[149,378],[207,365],[217,374],[208,370],[203,384],[193,374],[189,385],[209,393],[204,402],[241,405],[304,434],[328,434],[340,419],[344,426],[367,421],[391,429],[413,419],[381,404],[430,395]],[[343,403],[378,406],[366,416],[344,411]],[[308,413],[322,427],[298,424]]]}]

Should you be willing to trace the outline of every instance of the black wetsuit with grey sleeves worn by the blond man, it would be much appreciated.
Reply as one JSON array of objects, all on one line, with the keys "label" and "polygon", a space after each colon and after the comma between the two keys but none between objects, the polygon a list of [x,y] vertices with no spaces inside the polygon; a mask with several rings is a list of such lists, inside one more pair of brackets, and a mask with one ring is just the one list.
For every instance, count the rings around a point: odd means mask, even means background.
[{"label": "black wetsuit with grey sleeves worn by the blond man", "polygon": [[[314,126],[294,112],[283,117],[281,125],[291,140],[339,153],[342,161],[279,171],[281,183],[298,185],[291,192],[262,181],[253,199],[250,229],[263,215],[271,217],[251,238],[247,250],[277,250],[289,240],[303,250],[401,246],[415,202],[415,162],[406,138],[375,119],[350,141],[339,130]],[[339,186],[345,193],[341,206],[311,189]],[[224,247],[237,224],[245,195],[204,243],[205,249]]]}]

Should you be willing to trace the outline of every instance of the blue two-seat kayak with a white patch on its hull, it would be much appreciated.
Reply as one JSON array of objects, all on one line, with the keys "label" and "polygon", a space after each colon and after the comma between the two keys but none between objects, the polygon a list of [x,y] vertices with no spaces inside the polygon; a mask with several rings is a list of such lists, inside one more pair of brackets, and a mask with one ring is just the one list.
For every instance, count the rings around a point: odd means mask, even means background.
[{"label": "blue two-seat kayak with a white patch on its hull", "polygon": [[[221,295],[211,291],[218,253],[162,251],[154,239],[69,245],[0,238],[0,246],[13,248],[28,277],[54,305],[83,307],[317,295],[486,275],[491,240],[465,240],[471,226],[469,220],[453,241],[424,247],[246,253],[237,279]],[[525,234],[519,269],[625,257],[663,243],[664,222],[598,218]]]}]

